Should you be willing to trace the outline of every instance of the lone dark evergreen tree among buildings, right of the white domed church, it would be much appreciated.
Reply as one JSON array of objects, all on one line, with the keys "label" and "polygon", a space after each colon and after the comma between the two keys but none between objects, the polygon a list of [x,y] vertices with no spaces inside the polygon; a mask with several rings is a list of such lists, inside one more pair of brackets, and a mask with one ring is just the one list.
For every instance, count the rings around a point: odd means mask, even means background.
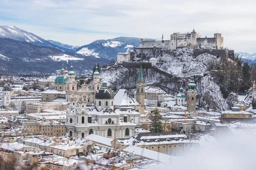
[{"label": "lone dark evergreen tree among buildings, right of the white domed church", "polygon": [[150,132],[163,131],[161,115],[157,109],[155,109],[151,114],[151,124],[149,128],[150,128]]}]

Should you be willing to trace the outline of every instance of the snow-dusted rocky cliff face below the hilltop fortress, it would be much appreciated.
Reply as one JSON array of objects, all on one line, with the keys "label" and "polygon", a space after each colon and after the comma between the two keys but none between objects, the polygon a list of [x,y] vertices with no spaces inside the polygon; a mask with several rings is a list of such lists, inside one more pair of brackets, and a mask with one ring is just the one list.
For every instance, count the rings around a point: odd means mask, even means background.
[{"label": "snow-dusted rocky cliff face below the hilltop fortress", "polygon": [[[165,53],[157,59],[164,61],[164,64],[159,69],[147,66],[143,68],[143,77],[146,85],[161,87],[174,96],[178,94],[179,88],[183,87],[186,94],[189,75],[195,74],[198,106],[204,107],[209,105],[214,111],[228,109],[220,87],[212,81],[210,72],[206,72],[209,63],[219,62],[220,59],[216,59],[216,57],[210,54],[193,57],[192,51],[189,48]],[[138,65],[131,65],[130,68],[128,65],[125,65],[125,67],[121,66],[117,70],[105,71],[101,74],[101,78],[105,79],[114,90],[119,88],[134,89],[139,73]],[[176,74],[184,75],[186,71],[186,76],[173,77],[168,70],[175,70],[175,67]]]}]

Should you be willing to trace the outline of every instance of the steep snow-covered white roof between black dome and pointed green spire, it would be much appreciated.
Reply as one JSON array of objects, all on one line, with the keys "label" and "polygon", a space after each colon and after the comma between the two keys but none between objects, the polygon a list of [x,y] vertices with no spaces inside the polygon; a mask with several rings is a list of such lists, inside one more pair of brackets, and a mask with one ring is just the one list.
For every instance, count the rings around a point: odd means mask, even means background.
[{"label": "steep snow-covered white roof between black dome and pointed green spire", "polygon": [[114,105],[115,106],[130,106],[130,105],[140,105],[136,99],[131,97],[127,90],[120,89],[117,94],[114,96]]}]

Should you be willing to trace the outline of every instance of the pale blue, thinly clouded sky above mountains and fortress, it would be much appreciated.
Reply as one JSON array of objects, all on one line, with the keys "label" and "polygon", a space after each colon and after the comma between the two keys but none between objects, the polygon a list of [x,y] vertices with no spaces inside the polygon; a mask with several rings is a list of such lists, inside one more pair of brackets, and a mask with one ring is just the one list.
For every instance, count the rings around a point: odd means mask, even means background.
[{"label": "pale blue, thinly clouded sky above mountains and fortress", "polygon": [[217,32],[235,52],[256,52],[255,0],[0,0],[0,25],[45,40],[86,45],[120,36],[169,39]]}]

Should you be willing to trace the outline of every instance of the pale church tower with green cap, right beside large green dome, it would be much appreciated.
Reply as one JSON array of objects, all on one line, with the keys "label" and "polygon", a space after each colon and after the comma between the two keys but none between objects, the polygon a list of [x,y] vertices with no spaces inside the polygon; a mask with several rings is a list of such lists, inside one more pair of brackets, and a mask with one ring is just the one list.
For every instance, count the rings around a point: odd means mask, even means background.
[{"label": "pale church tower with green cap, right beside large green dome", "polygon": [[66,82],[66,101],[70,98],[74,98],[77,90],[77,82],[75,80],[75,72],[73,71],[73,64],[71,64],[70,71],[68,73],[68,81]]}]

